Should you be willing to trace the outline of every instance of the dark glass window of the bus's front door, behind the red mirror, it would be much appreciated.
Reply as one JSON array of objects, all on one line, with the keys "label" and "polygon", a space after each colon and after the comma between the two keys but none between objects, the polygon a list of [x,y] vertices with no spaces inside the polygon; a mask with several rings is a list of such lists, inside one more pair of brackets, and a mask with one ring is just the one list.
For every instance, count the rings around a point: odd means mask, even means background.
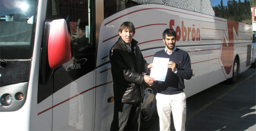
[{"label": "dark glass window of the bus's front door, behind the red mirror", "polygon": [[[72,56],[82,55],[87,52],[92,52],[90,43],[90,23],[89,23],[89,8],[88,0],[52,0],[49,2],[47,16],[51,15],[66,15],[68,16],[70,41]],[[93,50],[94,51],[94,50]]]}]

